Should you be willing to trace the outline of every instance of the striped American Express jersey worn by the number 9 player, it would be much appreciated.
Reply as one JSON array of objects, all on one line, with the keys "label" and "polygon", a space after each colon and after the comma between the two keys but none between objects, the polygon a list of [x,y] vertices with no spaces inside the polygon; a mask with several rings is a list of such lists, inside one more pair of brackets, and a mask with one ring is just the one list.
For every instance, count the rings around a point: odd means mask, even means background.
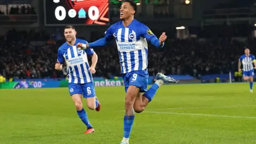
[{"label": "striped American Express jersey worn by the number 9 player", "polygon": [[159,45],[159,39],[143,23],[133,20],[129,26],[124,27],[119,21],[110,26],[105,32],[105,37],[109,40],[115,38],[121,71],[123,74],[134,70],[147,70],[148,67],[148,43],[155,38]]}]

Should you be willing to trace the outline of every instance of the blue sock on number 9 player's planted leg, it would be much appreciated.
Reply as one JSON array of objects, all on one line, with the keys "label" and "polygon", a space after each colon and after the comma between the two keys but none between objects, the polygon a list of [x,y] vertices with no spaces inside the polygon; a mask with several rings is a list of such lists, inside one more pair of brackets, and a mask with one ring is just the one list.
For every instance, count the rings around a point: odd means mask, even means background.
[{"label": "blue sock on number 9 player's planted leg", "polygon": [[124,116],[124,138],[129,138],[132,130],[134,115]]}]

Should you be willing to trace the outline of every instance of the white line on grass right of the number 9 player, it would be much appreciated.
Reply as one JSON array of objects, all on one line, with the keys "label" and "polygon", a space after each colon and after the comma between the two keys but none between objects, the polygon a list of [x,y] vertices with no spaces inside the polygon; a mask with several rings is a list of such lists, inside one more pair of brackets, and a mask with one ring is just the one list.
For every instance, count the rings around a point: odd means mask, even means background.
[{"label": "white line on grass right of the number 9 player", "polygon": [[250,119],[256,119],[256,117],[250,117],[250,116],[226,116],[226,115],[210,115],[210,114],[189,114],[189,113],[172,113],[172,112],[161,112],[161,111],[143,111],[142,113],[169,114],[169,115],[190,115],[190,116],[211,116],[211,117],[229,117],[229,118],[250,118]]}]

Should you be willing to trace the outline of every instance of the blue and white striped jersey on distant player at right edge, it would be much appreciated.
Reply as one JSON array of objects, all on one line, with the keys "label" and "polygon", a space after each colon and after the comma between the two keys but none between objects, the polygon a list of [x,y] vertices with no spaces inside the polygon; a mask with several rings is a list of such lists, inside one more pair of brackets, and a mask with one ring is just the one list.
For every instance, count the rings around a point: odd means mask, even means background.
[{"label": "blue and white striped jersey on distant player at right edge", "polygon": [[244,55],[241,55],[240,59],[239,59],[242,64],[243,64],[243,71],[251,71],[253,70],[253,65],[252,63],[255,61],[255,57],[254,55],[248,55],[246,56],[245,54]]}]

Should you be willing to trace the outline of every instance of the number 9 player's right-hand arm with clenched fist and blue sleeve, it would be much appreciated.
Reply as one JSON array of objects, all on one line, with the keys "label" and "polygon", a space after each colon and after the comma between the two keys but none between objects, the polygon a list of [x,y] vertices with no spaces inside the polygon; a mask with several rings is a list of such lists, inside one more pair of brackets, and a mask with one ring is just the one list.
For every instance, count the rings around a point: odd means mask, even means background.
[{"label": "number 9 player's right-hand arm with clenched fist and blue sleeve", "polygon": [[164,42],[167,38],[165,33],[162,33],[162,35],[159,37],[159,39],[152,33],[152,31],[145,25],[141,25],[141,32],[143,37],[147,39],[151,44],[155,45],[156,47],[163,47]]}]

